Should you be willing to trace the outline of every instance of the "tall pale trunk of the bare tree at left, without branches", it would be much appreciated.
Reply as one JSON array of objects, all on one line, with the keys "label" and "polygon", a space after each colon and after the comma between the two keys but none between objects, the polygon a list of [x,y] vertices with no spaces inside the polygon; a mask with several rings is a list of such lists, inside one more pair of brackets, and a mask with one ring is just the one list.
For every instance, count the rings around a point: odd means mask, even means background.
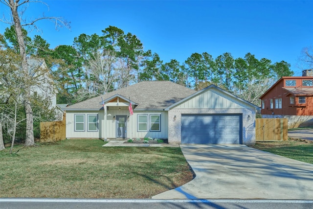
[{"label": "tall pale trunk of the bare tree at left, without branches", "polygon": [[[10,0],[10,8],[12,12],[14,27],[20,47],[20,55],[22,57],[22,72],[25,76],[25,82],[28,84],[29,81],[29,72],[26,58],[26,46],[24,42],[24,37],[22,34],[22,25],[20,21],[20,16],[18,13],[18,2],[14,0]],[[24,95],[25,100],[25,111],[26,111],[26,139],[25,146],[33,146],[35,145],[34,140],[34,124],[33,124],[33,111],[29,101],[29,90],[25,89],[26,95]]]}]

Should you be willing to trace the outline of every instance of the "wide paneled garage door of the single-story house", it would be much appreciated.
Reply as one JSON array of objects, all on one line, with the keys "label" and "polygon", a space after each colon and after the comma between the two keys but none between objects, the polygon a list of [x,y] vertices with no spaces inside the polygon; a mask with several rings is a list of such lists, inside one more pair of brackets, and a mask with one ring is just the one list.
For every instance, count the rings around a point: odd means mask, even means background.
[{"label": "wide paneled garage door of the single-story house", "polygon": [[241,144],[240,114],[181,116],[181,143]]}]

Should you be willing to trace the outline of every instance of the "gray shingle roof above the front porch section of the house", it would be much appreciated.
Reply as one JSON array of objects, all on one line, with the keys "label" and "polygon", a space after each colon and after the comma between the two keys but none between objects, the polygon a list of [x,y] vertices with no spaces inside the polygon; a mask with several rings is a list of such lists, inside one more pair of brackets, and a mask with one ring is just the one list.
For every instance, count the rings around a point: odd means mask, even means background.
[{"label": "gray shingle roof above the front porch section of the house", "polygon": [[130,98],[138,104],[135,110],[163,110],[195,92],[196,91],[171,81],[142,81],[140,83],[70,105],[64,108],[64,110],[100,110],[102,108],[101,97],[103,100],[106,100],[115,94]]}]

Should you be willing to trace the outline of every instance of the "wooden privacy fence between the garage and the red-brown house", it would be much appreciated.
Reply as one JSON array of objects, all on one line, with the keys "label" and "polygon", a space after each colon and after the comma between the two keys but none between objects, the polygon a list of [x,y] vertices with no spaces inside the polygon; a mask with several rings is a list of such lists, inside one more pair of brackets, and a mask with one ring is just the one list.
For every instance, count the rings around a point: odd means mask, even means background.
[{"label": "wooden privacy fence between the garage and the red-brown house", "polygon": [[288,140],[287,118],[256,118],[256,141]]}]

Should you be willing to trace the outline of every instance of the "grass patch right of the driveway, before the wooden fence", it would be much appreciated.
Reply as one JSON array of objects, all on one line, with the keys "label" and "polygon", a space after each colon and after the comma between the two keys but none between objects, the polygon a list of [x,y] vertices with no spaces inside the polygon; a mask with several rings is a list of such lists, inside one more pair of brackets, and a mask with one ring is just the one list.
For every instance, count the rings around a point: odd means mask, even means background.
[{"label": "grass patch right of the driveway, before the wooden fence", "polygon": [[287,140],[278,142],[256,142],[252,147],[297,161],[313,164],[313,141]]}]

